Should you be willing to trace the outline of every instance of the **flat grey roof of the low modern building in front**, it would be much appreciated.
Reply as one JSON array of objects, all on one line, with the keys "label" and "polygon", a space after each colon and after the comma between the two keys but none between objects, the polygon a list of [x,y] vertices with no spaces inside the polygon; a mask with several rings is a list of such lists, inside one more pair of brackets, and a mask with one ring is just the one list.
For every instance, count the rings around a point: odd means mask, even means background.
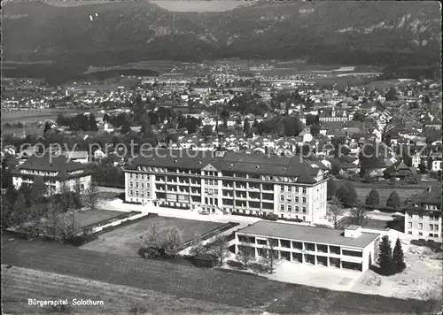
[{"label": "flat grey roof of the low modern building in front", "polygon": [[319,242],[337,246],[365,248],[379,234],[362,232],[357,238],[345,237],[343,230],[325,227],[306,227],[289,223],[259,221],[237,231],[241,234],[254,234],[303,242]]}]

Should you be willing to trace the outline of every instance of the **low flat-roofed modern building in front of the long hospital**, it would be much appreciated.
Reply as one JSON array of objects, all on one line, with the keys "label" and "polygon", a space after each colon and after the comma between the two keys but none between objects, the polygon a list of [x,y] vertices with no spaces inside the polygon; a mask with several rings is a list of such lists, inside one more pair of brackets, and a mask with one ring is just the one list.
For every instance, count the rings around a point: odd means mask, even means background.
[{"label": "low flat-roofed modern building in front of the long hospital", "polygon": [[380,234],[359,226],[343,231],[263,220],[236,232],[236,253],[249,242],[255,257],[263,257],[273,242],[272,250],[286,261],[365,272],[377,260],[379,240]]}]

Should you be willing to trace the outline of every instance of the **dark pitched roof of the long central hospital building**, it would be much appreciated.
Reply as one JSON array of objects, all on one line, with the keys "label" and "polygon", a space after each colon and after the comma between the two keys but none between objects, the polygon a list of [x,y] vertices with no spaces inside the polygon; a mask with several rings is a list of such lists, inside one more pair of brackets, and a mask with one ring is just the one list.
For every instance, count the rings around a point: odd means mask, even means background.
[{"label": "dark pitched roof of the long central hospital building", "polygon": [[151,150],[137,157],[127,170],[137,166],[170,167],[200,170],[206,165],[213,165],[219,171],[235,173],[258,173],[274,176],[297,177],[296,182],[313,184],[314,177],[320,171],[299,157],[282,157],[277,155],[244,154],[225,152],[215,156],[214,152],[190,150]]}]

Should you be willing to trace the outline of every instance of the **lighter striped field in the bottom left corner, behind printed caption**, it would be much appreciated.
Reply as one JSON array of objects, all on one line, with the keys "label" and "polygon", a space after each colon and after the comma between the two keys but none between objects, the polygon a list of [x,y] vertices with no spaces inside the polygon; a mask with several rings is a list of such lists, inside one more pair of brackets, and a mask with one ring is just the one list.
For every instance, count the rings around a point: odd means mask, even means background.
[{"label": "lighter striped field in the bottom left corner, behind printed caption", "polygon": [[2,267],[4,292],[2,304],[4,313],[9,314],[35,314],[36,311],[47,313],[50,307],[28,305],[27,298],[39,300],[51,299],[91,299],[101,300],[103,306],[73,306],[75,313],[81,314],[125,314],[136,305],[144,305],[150,313],[183,313],[183,310],[195,311],[206,314],[230,313],[252,314],[253,310],[245,312],[237,308],[220,303],[207,303],[197,299],[177,299],[165,293],[141,288],[114,285],[95,280],[45,273],[27,268]]}]

